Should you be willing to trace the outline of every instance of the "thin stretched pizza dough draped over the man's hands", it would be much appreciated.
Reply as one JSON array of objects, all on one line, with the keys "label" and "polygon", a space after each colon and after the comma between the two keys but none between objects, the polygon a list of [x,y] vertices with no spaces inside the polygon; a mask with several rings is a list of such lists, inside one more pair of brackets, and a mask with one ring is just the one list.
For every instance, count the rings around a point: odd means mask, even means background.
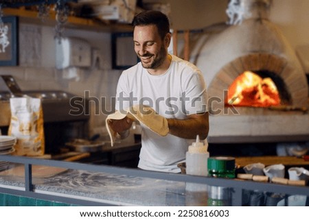
[{"label": "thin stretched pizza dough draped over the man's hands", "polygon": [[115,138],[117,136],[117,132],[111,129],[108,121],[111,119],[121,120],[125,117],[132,119],[133,121],[139,121],[148,127],[152,132],[155,132],[161,136],[168,135],[168,120],[165,117],[162,117],[160,114],[155,112],[153,108],[144,105],[136,105],[131,106],[127,110],[117,111],[113,114],[109,114],[106,118],[106,128],[108,131],[108,135],[111,138],[111,146],[113,147],[115,143]]}]

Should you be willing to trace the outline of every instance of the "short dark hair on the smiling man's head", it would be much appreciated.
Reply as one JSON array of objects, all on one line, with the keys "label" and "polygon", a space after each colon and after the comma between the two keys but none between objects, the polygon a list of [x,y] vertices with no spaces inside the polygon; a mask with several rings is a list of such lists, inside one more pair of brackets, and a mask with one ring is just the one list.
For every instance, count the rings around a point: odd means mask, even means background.
[{"label": "short dark hair on the smiling man's head", "polygon": [[146,10],[135,15],[132,25],[133,27],[156,25],[162,39],[166,34],[170,33],[170,21],[168,21],[168,16],[155,10]]}]

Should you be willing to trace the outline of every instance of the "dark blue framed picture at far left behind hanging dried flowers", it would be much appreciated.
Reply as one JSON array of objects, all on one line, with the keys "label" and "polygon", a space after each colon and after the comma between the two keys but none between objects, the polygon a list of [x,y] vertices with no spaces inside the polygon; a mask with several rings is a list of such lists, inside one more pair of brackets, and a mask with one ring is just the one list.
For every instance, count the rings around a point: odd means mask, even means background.
[{"label": "dark blue framed picture at far left behind hanging dried flowers", "polygon": [[0,66],[17,66],[18,49],[18,17],[4,16],[0,20]]}]

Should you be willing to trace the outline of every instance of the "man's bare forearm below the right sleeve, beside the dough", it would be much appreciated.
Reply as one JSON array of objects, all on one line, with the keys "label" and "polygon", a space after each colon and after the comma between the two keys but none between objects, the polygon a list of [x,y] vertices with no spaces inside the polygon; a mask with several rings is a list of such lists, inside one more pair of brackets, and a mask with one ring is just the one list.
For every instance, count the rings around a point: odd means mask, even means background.
[{"label": "man's bare forearm below the right sleeve, beside the dough", "polygon": [[194,139],[198,134],[201,139],[207,138],[209,131],[208,112],[191,116],[189,119],[167,119],[170,134],[180,138]]}]

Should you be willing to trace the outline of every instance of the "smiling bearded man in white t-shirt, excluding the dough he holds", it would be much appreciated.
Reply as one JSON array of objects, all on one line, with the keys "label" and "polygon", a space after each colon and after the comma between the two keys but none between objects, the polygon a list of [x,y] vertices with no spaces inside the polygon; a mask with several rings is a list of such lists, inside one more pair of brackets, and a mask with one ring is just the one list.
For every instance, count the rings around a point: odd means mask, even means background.
[{"label": "smiling bearded man in white t-shirt, excluding the dough he holds", "polygon": [[[133,19],[135,52],[141,60],[119,77],[116,110],[144,104],[168,120],[169,134],[159,136],[141,125],[140,169],[179,173],[185,161],[186,139],[207,138],[207,91],[196,66],[168,54],[171,34],[168,17],[144,11]],[[130,100],[130,101],[128,101]],[[126,117],[109,124],[120,138],[128,136]]]}]

